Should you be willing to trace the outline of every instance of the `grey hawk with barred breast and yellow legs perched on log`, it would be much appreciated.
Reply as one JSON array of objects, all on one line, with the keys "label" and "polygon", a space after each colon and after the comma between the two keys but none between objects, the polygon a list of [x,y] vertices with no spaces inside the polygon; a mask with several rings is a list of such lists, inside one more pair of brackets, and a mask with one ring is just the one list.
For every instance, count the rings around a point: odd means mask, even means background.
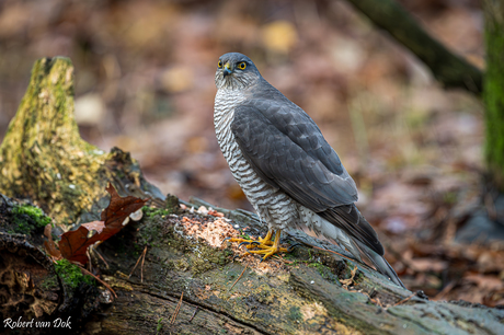
[{"label": "grey hawk with barred breast and yellow legs perched on log", "polygon": [[404,287],[383,258],[375,230],[355,207],[355,182],[311,117],[271,85],[245,55],[222,55],[215,83],[217,140],[232,175],[268,227],[264,239],[248,245],[256,249],[249,252],[265,259],[286,251],[279,246],[283,229],[308,229],[360,262],[364,254]]}]

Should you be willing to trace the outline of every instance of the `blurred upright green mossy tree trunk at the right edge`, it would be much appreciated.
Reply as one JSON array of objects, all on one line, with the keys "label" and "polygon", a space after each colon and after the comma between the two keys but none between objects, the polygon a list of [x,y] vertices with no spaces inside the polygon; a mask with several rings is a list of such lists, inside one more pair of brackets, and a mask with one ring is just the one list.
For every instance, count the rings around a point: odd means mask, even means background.
[{"label": "blurred upright green mossy tree trunk at the right edge", "polygon": [[504,0],[484,1],[486,72],[485,158],[491,180],[504,192]]}]

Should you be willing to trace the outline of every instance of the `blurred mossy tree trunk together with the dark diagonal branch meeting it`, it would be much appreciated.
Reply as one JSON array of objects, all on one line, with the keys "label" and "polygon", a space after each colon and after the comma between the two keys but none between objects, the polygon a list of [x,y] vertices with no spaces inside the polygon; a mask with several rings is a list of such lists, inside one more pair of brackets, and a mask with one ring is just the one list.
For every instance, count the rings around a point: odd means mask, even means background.
[{"label": "blurred mossy tree trunk together with the dark diagonal branch meeting it", "polygon": [[490,182],[504,192],[504,0],[484,0],[486,69],[481,71],[433,38],[396,0],[347,0],[390,33],[433,72],[445,88],[481,92],[485,104],[485,160]]}]

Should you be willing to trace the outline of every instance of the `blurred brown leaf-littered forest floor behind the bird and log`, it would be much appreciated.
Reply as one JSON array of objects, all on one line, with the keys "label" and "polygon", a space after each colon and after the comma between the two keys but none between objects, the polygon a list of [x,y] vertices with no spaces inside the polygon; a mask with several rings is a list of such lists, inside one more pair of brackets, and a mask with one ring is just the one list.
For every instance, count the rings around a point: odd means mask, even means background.
[{"label": "blurred brown leaf-littered forest floor behind the bird and log", "polygon": [[[484,68],[480,1],[400,2]],[[214,132],[214,73],[228,51],[251,57],[320,126],[408,288],[504,304],[503,244],[467,227],[483,194],[481,101],[443,90],[342,0],[2,0],[0,141],[33,62],[67,56],[85,140],[131,152],[163,193],[251,209]]]}]

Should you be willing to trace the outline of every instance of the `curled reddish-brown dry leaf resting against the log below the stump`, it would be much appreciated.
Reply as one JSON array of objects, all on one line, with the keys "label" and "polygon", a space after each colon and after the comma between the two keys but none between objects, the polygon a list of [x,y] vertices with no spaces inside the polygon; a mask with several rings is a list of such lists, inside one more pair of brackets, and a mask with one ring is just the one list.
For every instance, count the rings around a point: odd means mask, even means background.
[{"label": "curled reddish-brown dry leaf resting against the log below the stump", "polygon": [[[128,223],[129,215],[140,209],[148,200],[133,196],[122,198],[111,184],[106,190],[111,194],[111,203],[102,211],[103,221],[83,223],[79,229],[61,235],[59,250],[65,258],[81,264],[88,263],[88,247],[119,232]],[[92,234],[92,231],[96,233]]]}]

